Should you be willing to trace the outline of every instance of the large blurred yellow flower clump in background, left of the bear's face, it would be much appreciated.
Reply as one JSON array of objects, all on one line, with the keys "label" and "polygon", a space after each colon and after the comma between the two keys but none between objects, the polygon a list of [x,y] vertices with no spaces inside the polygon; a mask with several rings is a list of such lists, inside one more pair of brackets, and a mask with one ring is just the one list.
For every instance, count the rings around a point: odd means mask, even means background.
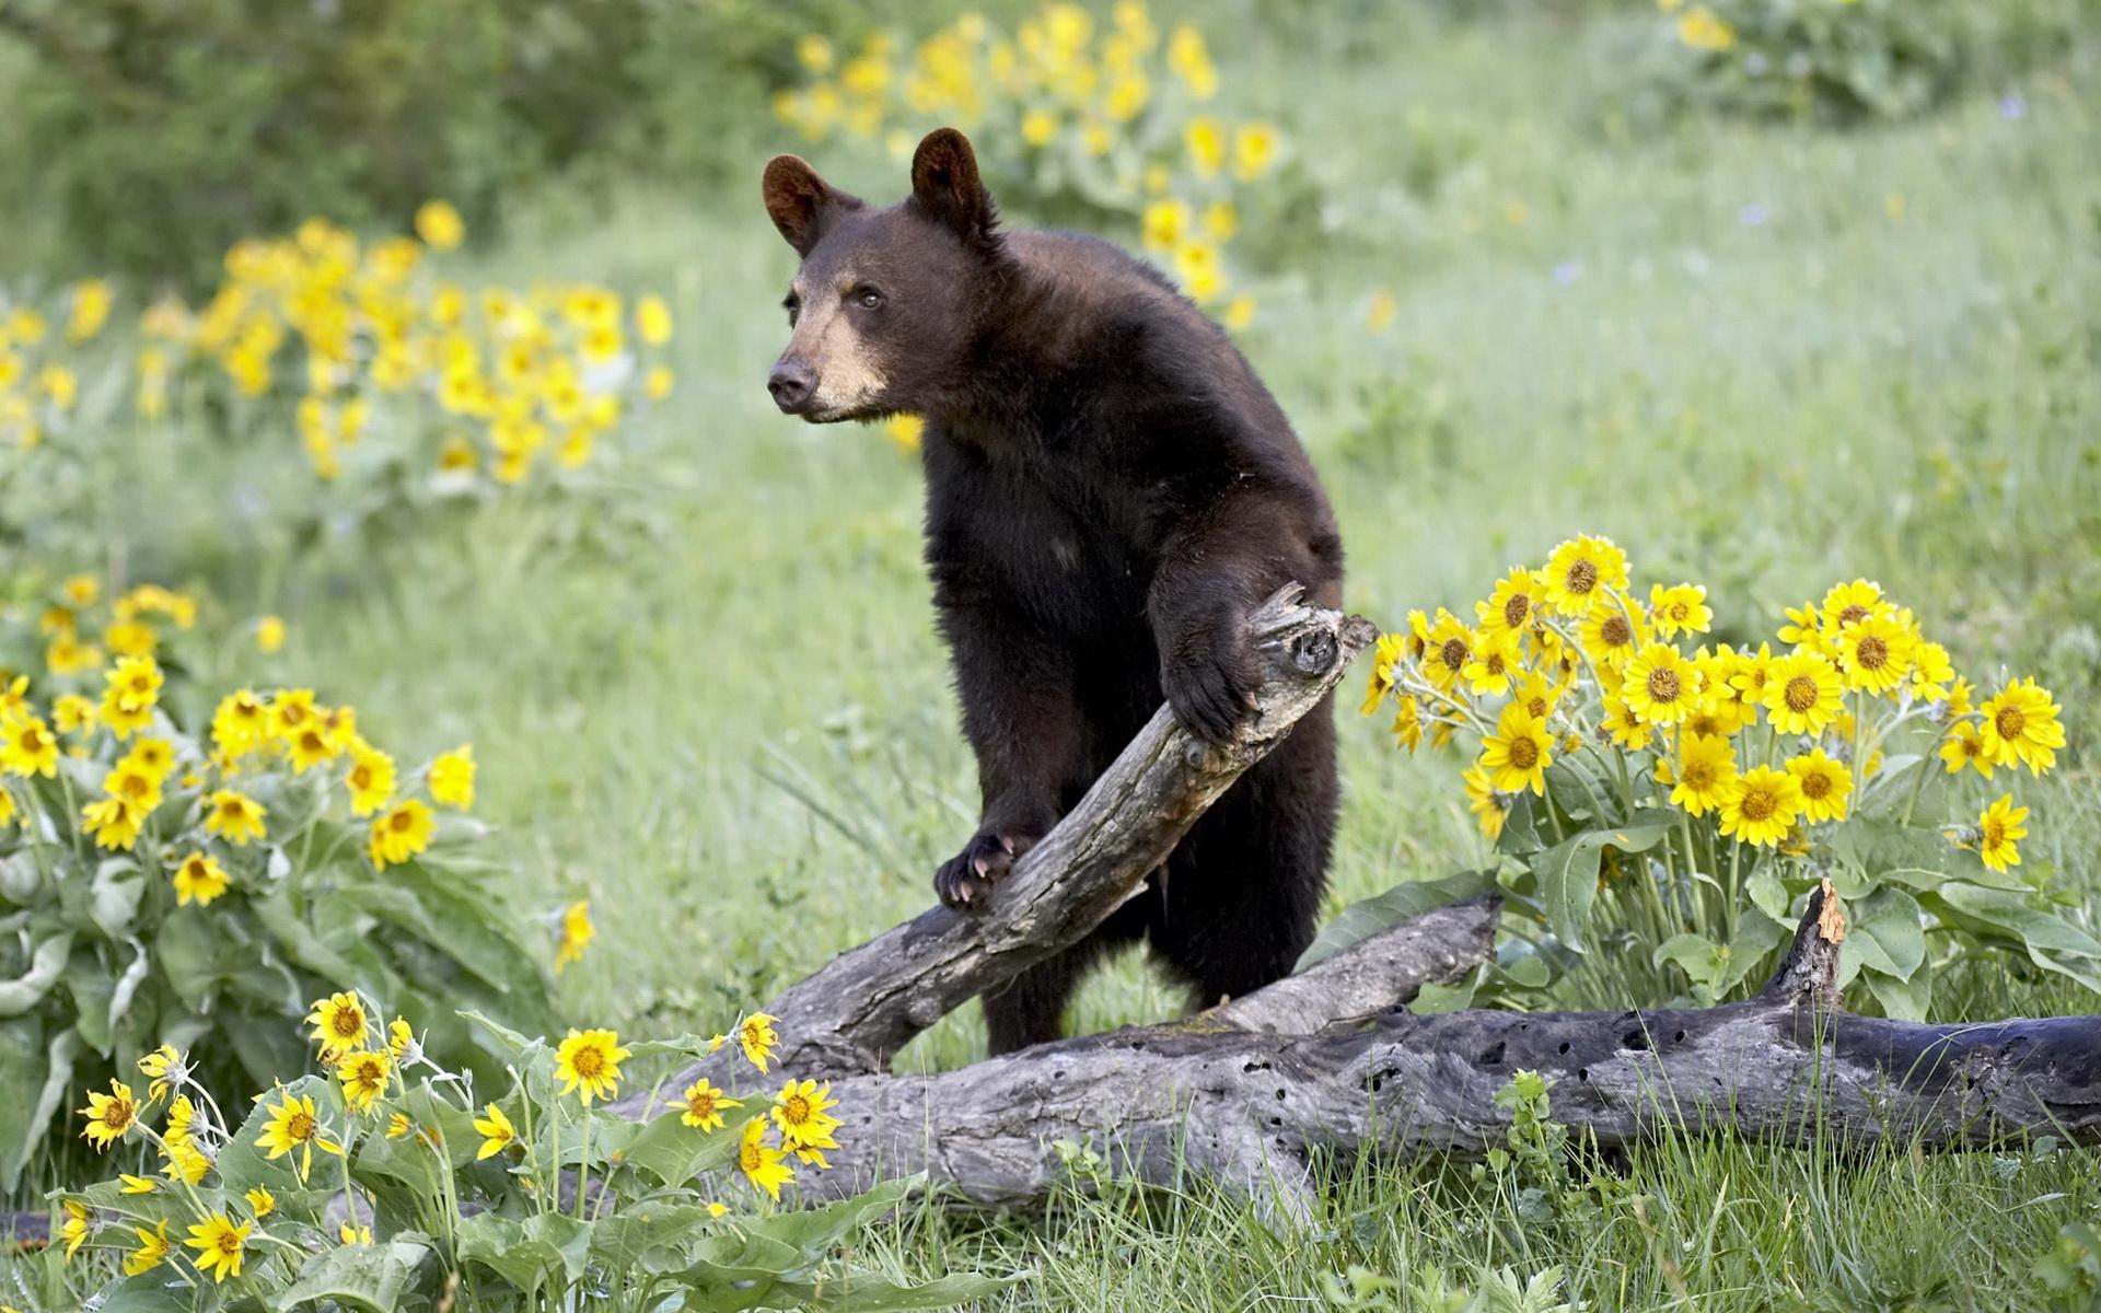
[{"label": "large blurred yellow flower clump in background, left of the bear's face", "polygon": [[147,309],[141,414],[166,414],[170,376],[200,372],[235,397],[288,401],[321,479],[366,452],[456,483],[519,483],[542,460],[584,464],[637,405],[670,395],[662,296],[469,288],[433,269],[462,239],[458,212],[431,202],[414,237],[359,242],[309,218],[235,244],[202,307]]}]

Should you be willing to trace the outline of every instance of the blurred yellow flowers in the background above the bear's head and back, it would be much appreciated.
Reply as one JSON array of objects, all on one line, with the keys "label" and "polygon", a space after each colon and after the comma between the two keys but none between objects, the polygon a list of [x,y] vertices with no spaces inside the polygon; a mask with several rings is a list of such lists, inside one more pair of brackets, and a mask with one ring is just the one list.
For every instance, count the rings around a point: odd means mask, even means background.
[{"label": "blurred yellow flowers in the background above the bear's head and back", "polygon": [[1225,248],[1246,189],[1277,172],[1286,143],[1271,122],[1212,109],[1219,67],[1193,23],[1162,32],[1139,0],[1103,19],[1059,2],[1013,34],[964,13],[914,44],[878,32],[853,55],[805,36],[796,59],[807,82],[773,109],[807,141],[882,141],[906,160],[927,128],[983,128],[975,145],[996,191],[1128,214],[1198,305],[1229,328],[1254,319]]}]

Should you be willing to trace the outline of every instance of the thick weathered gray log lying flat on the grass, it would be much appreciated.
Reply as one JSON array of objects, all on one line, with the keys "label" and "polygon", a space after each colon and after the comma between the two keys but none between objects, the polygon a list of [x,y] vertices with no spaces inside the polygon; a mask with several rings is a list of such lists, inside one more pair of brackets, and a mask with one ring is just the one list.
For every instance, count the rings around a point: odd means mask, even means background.
[{"label": "thick weathered gray log lying flat on the grass", "polygon": [[[1391,935],[1336,960],[1378,956]],[[845,1147],[800,1187],[838,1197],[924,1170],[962,1202],[1023,1204],[1067,1174],[1055,1145],[1069,1141],[1139,1181],[1168,1185],[1193,1170],[1298,1212],[1317,1151],[1469,1155],[1498,1145],[1509,1113],[1494,1097],[1519,1069],[1546,1076],[1555,1120],[1597,1145],[1687,1130],[1927,1149],[2042,1132],[2101,1143],[2101,1017],[1855,1017],[1830,1006],[1843,935],[1826,887],[1765,992],[1717,1008],[1387,1010],[1313,1034],[1221,1031],[1214,1010],[960,1071],[840,1080]],[[1250,1021],[1309,1027],[1322,1019],[1317,994],[1309,973],[1235,1006]]]}]

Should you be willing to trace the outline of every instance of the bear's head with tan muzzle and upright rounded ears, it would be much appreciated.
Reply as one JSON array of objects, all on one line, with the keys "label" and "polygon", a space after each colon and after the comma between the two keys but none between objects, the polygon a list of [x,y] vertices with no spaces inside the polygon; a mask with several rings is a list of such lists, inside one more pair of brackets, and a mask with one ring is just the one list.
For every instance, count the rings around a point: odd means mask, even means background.
[{"label": "bear's head with tan muzzle and upright rounded ears", "polygon": [[767,214],[803,267],[788,288],[788,349],[773,403],[813,424],[922,412],[964,382],[1006,254],[977,155],[937,128],[912,155],[912,195],[872,210],[796,155],[765,174]]}]

